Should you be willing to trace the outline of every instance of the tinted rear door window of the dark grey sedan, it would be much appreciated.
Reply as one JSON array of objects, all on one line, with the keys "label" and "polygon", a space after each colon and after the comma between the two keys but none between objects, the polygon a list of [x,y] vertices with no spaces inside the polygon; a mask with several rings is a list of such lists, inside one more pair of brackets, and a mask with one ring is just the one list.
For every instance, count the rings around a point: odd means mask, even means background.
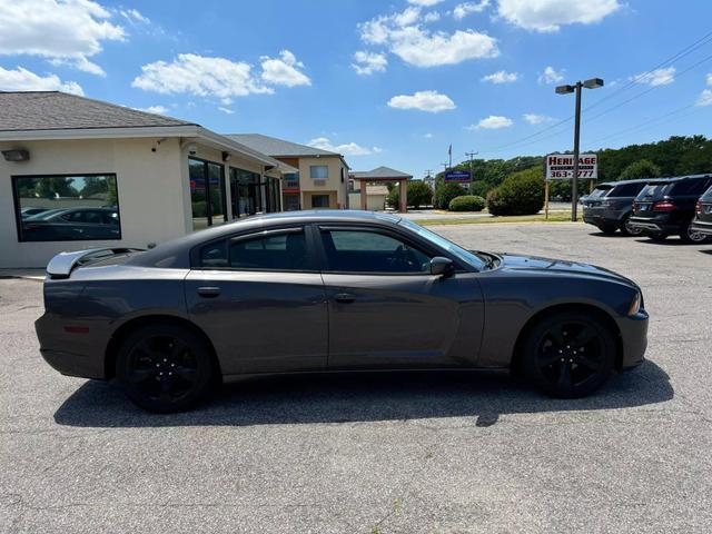
[{"label": "tinted rear door window of the dark grey sedan", "polygon": [[229,266],[236,269],[306,270],[304,233],[230,241]]}]

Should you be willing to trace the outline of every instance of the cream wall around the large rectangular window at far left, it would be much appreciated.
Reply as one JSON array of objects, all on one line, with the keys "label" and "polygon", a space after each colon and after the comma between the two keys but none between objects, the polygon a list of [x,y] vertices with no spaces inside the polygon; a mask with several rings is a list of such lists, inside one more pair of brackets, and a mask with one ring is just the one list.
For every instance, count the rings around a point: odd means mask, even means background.
[{"label": "cream wall around the large rectangular window at far left", "polygon": [[[131,246],[145,248],[179,237],[190,228],[187,159],[178,139],[60,140],[0,142],[0,150],[24,148],[30,160],[0,158],[0,267],[44,267],[62,250]],[[156,148],[156,151],[151,151]],[[116,174],[120,240],[19,243],[12,176]]]}]

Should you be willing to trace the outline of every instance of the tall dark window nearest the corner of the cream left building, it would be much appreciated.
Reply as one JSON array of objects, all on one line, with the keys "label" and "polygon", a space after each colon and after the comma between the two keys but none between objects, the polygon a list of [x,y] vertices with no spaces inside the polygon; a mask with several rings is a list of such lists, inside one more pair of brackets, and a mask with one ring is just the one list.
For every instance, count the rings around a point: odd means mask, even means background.
[{"label": "tall dark window nearest the corner of the cream left building", "polygon": [[[225,172],[222,166],[201,159],[188,159],[192,229],[225,222]],[[209,199],[209,200],[208,200]]]}]

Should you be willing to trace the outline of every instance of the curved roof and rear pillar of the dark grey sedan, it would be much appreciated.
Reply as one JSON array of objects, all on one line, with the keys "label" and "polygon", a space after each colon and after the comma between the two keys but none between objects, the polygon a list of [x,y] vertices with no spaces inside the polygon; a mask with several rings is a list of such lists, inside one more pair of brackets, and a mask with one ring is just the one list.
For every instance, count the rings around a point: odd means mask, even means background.
[{"label": "curved roof and rear pillar of the dark grey sedan", "polygon": [[171,241],[166,241],[156,248],[147,250],[131,258],[127,264],[140,266],[161,266],[188,268],[189,251],[191,248],[220,239],[236,233],[259,231],[270,227],[280,227],[293,224],[312,222],[352,222],[352,224],[385,224],[396,225],[400,220],[399,216],[389,214],[376,214],[374,211],[362,211],[356,209],[313,209],[304,211],[280,211],[277,214],[256,215],[237,219],[220,226],[214,226],[205,230],[195,231],[187,236],[179,237]]}]

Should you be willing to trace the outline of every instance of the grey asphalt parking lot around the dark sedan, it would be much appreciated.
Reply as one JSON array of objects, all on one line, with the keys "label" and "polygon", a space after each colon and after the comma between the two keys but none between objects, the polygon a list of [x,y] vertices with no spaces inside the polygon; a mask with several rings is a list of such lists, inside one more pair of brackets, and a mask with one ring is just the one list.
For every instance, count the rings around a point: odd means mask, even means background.
[{"label": "grey asphalt parking lot around the dark sedan", "polygon": [[47,366],[41,284],[0,279],[0,532],[711,532],[712,245],[433,229],[633,278],[649,362],[577,400],[500,374],[363,374],[251,379],[156,416]]}]

